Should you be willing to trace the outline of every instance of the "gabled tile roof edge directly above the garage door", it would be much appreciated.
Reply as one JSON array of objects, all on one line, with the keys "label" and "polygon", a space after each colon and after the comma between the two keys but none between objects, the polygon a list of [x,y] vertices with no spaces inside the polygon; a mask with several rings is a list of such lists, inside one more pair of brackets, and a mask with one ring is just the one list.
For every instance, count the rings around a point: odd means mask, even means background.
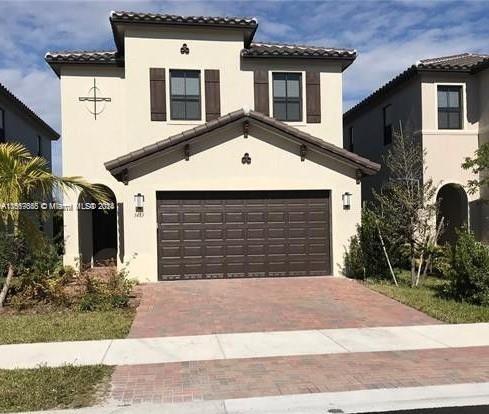
[{"label": "gabled tile roof edge directly above the garage door", "polygon": [[380,169],[379,164],[363,158],[360,155],[337,147],[336,145],[326,142],[321,138],[314,137],[307,132],[287,125],[284,122],[270,118],[269,116],[263,115],[262,113],[248,111],[245,109],[238,109],[236,111],[230,112],[229,114],[222,115],[219,118],[207,122],[201,126],[178,133],[154,144],[148,145],[113,160],[107,161],[105,163],[105,168],[110,171],[110,173],[118,180],[122,180],[123,178],[121,176],[121,173],[124,170],[133,167],[134,165],[141,161],[144,161],[148,157],[155,156],[158,153],[169,150],[177,145],[184,145],[194,138],[197,138],[207,132],[216,130],[220,127],[229,125],[232,122],[241,119],[257,121],[268,127],[272,127],[278,130],[280,133],[287,134],[295,138],[301,144],[310,145],[312,148],[316,148],[336,160],[339,160],[354,168],[359,169],[360,171],[362,171],[363,174],[375,174]]}]

